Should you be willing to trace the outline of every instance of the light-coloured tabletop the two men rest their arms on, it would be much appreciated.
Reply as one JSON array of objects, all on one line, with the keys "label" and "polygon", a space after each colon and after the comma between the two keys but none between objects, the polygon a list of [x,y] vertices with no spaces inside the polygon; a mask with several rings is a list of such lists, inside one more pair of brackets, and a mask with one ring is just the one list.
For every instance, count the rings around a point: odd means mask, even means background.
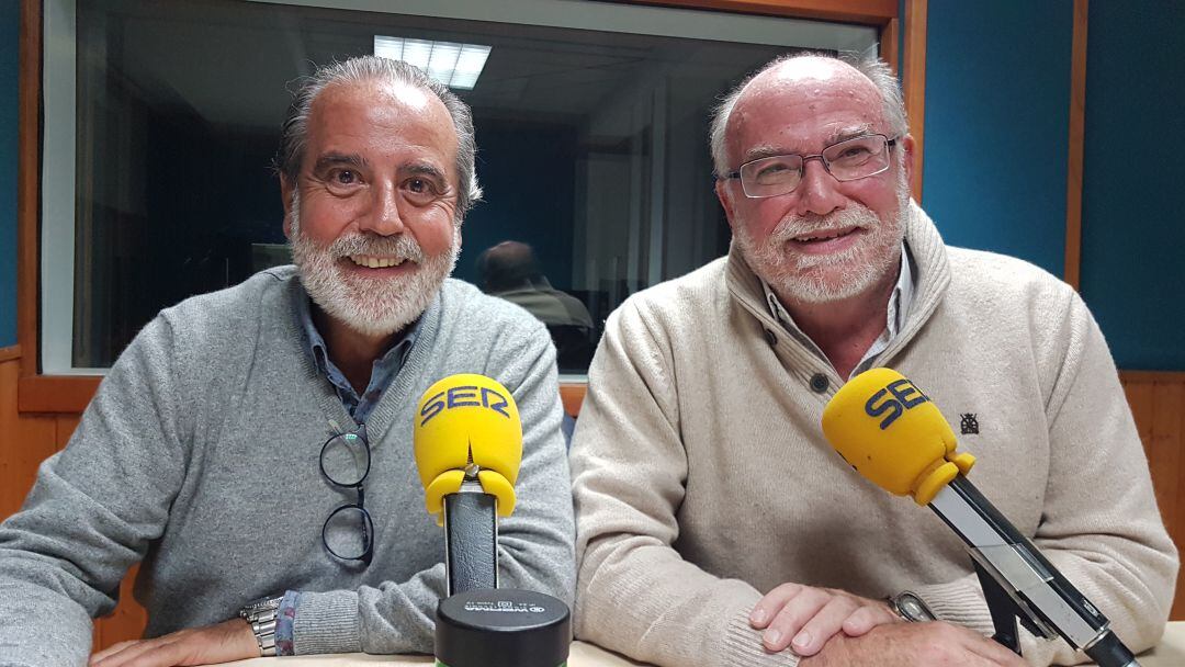
[{"label": "light-coloured tabletop the two men rest their arms on", "polygon": [[[270,665],[276,667],[281,665],[281,661],[283,667],[365,667],[377,663],[390,666],[433,663],[433,659],[427,655],[366,655],[363,653],[351,653],[347,655],[305,655],[282,659],[255,658],[252,660],[241,660],[232,665],[250,667],[265,667]],[[568,665],[570,667],[630,667],[642,663],[627,660],[590,643],[572,642]],[[1140,655],[1140,665],[1142,667],[1181,667],[1185,665],[1185,621],[1168,623],[1160,643],[1152,650]]]}]

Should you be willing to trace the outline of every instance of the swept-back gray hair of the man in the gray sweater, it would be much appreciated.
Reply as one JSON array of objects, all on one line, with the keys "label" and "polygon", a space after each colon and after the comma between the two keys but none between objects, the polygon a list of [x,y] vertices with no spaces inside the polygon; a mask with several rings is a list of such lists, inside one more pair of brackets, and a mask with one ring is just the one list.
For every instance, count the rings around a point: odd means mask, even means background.
[{"label": "swept-back gray hair of the man in the gray sweater", "polygon": [[460,192],[457,193],[455,219],[460,223],[469,209],[481,200],[481,186],[478,184],[478,173],[474,168],[478,142],[473,132],[473,114],[469,111],[469,105],[454,95],[447,85],[433,79],[419,68],[399,60],[360,56],[341,63],[322,65],[312,76],[305,77],[295,92],[293,103],[288,108],[288,116],[280,130],[276,171],[293,182],[300,175],[300,166],[305,160],[305,147],[308,142],[309,113],[313,102],[326,88],[367,82],[418,88],[435,95],[448,109],[457,141],[456,173]]}]

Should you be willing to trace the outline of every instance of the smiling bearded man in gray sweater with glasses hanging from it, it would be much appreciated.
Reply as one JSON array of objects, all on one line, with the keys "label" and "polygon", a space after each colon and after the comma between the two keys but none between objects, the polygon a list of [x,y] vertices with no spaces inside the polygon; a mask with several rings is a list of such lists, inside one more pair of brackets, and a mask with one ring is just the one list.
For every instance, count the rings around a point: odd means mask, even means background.
[{"label": "smiling bearded man in gray sweater with glasses hanging from it", "polygon": [[277,159],[296,265],[164,310],[120,357],[0,526],[5,663],[87,662],[137,560],[153,639],[91,665],[430,653],[443,541],[412,415],[453,373],[501,381],[523,419],[500,581],[571,603],[553,347],[447,278],[474,153],[469,109],[410,65],[357,58],[303,85]]}]

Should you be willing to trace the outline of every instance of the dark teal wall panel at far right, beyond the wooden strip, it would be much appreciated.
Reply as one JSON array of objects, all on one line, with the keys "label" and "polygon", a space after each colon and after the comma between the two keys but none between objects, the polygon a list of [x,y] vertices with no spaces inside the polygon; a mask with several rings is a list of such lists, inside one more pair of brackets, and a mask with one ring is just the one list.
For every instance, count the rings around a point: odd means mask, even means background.
[{"label": "dark teal wall panel at far right, beyond the wooden strip", "polygon": [[1185,371],[1185,2],[1090,2],[1082,295],[1123,368]]}]

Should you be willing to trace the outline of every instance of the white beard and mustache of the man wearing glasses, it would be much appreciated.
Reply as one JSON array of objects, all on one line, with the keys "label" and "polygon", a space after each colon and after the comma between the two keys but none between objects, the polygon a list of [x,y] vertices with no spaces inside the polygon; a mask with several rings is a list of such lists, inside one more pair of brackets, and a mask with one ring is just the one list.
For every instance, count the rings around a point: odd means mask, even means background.
[{"label": "white beard and mustache of the man wearing glasses", "polygon": [[[909,181],[898,171],[897,210],[882,220],[871,209],[854,204],[827,216],[786,216],[761,243],[749,235],[744,224],[732,227],[749,267],[783,299],[799,303],[841,301],[872,288],[899,262],[897,249],[905,236],[909,216]],[[794,239],[822,229],[860,227],[864,238],[834,255],[787,252]]]}]

